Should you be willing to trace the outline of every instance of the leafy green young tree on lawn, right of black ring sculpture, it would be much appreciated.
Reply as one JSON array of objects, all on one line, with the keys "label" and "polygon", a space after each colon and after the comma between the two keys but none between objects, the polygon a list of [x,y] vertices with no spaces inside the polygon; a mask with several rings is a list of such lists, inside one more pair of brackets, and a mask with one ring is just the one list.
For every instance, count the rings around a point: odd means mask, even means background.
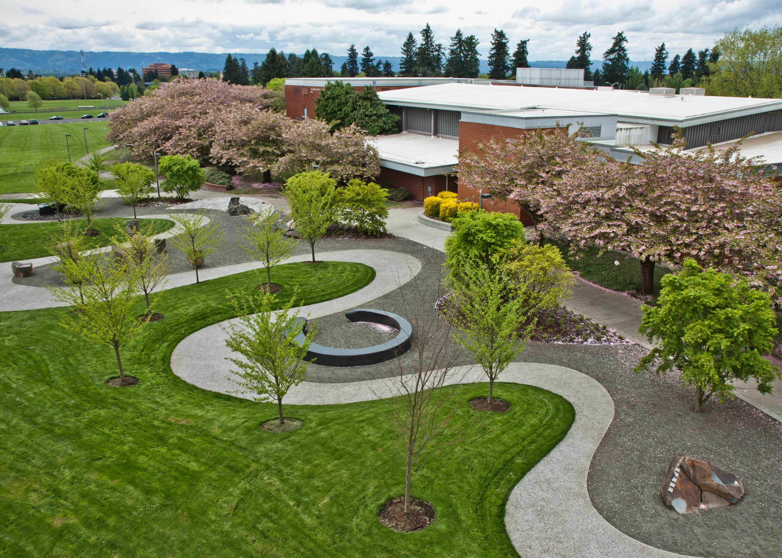
[{"label": "leafy green young tree on lawn, right of black ring sculpture", "polygon": [[465,268],[463,281],[453,283],[454,341],[472,354],[489,378],[489,405],[497,377],[524,350],[535,327],[520,297],[509,297],[505,277],[481,264]]}]

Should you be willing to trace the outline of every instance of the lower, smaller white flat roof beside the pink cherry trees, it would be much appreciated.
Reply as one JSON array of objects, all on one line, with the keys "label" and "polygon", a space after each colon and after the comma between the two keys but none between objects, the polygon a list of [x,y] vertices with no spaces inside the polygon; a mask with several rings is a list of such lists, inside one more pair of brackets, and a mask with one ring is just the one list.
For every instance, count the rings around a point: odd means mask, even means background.
[{"label": "lower, smaller white flat roof beside the pink cherry trees", "polygon": [[453,172],[459,162],[459,140],[403,132],[367,141],[378,149],[381,166],[419,177]]}]

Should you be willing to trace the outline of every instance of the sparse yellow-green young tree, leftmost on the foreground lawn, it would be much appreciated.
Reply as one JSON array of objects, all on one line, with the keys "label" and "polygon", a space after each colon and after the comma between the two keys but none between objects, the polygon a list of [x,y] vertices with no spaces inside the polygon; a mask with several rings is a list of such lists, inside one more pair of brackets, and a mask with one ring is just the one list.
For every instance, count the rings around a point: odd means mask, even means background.
[{"label": "sparse yellow-green young tree, leftmost on the foreground lawn", "polygon": [[88,341],[113,349],[120,385],[127,385],[120,349],[138,338],[145,324],[144,320],[131,316],[139,298],[135,271],[130,263],[109,252],[91,258],[78,281],[81,294],[72,288],[51,289],[56,299],[77,310],[63,314],[60,325]]}]

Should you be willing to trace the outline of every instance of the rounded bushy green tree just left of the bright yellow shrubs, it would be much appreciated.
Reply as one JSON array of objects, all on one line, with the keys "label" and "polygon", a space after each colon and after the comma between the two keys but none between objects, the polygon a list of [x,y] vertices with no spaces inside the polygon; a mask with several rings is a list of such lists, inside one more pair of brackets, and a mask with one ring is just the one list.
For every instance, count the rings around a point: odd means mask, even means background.
[{"label": "rounded bushy green tree just left of the bright yellow shrubs", "polygon": [[361,234],[380,236],[386,232],[386,199],[389,191],[374,182],[366,183],[357,178],[336,191],[339,217]]}]

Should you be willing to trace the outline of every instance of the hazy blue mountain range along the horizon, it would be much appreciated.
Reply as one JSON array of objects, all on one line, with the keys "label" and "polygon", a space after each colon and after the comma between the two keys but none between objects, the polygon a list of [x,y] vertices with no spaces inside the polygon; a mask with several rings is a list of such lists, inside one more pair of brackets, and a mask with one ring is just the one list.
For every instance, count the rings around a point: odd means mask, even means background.
[{"label": "hazy blue mountain range along the horizon", "polygon": [[[253,62],[262,63],[265,54],[236,52],[236,56],[244,58],[248,66]],[[191,68],[204,72],[217,72],[222,70],[225,63],[224,54],[212,54],[210,52],[84,52],[84,63],[97,70],[98,68],[122,67],[135,68],[141,72],[142,67],[152,63],[174,64],[178,68]],[[377,59],[388,60],[393,64],[394,70],[399,68],[399,56],[377,56]],[[334,69],[339,70],[346,56],[332,55]],[[530,62],[533,68],[564,68],[565,60],[536,60]],[[599,61],[597,62],[599,64]],[[651,62],[631,62],[632,66],[638,66],[643,72],[651,67]],[[27,48],[0,48],[0,67],[5,70],[19,68],[23,73],[33,70],[42,74],[70,74],[81,71],[81,56],[77,51],[65,50],[30,50]],[[481,72],[487,73],[489,65],[486,60],[481,60]]]}]

